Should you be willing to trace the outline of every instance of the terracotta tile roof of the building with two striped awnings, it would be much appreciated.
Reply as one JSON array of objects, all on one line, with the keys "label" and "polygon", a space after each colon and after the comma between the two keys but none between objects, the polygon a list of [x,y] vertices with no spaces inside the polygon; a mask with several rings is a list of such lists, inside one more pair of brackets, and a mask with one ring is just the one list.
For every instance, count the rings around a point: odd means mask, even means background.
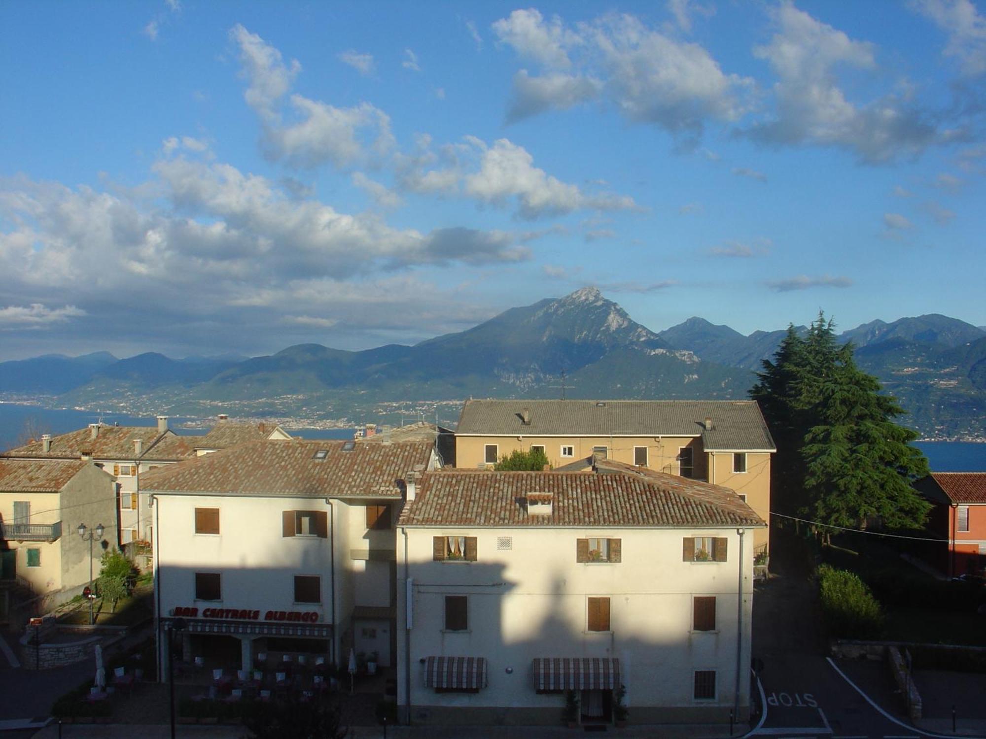
[{"label": "terracotta tile roof of the building with two striped awnings", "polygon": [[[529,515],[529,493],[551,493],[550,515]],[[729,488],[653,472],[648,475],[584,472],[426,473],[401,526],[764,526]]]}]

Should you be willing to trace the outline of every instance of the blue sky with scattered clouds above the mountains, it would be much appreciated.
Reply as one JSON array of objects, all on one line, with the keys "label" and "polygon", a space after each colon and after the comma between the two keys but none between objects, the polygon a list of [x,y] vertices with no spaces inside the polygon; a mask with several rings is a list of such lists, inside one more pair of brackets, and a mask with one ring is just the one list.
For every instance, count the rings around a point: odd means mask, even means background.
[{"label": "blue sky with scattered clouds above the mountains", "polygon": [[0,4],[0,360],[986,324],[986,9]]}]

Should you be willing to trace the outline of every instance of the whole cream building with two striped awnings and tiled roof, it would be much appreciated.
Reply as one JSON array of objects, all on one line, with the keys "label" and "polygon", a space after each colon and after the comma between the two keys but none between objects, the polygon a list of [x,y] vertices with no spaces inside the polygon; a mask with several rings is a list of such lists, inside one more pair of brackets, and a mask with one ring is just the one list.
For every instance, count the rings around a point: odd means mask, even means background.
[{"label": "whole cream building with two striped awnings and tiled roof", "polygon": [[738,721],[754,534],[732,491],[662,473],[442,471],[397,522],[398,705],[414,723]]}]

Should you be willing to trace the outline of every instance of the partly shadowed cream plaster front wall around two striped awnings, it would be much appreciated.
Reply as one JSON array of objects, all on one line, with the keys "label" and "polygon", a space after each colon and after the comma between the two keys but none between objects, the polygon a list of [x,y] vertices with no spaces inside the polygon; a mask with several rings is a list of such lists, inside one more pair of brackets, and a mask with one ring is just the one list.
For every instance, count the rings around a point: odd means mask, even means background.
[{"label": "partly shadowed cream plaster front wall around two striped awnings", "polygon": [[[693,700],[693,671],[717,670],[717,700],[733,705],[737,665],[739,535],[724,530],[642,529],[417,529],[409,528],[413,588],[410,667],[413,705],[546,707],[559,696],[532,687],[535,657],[618,657],[628,705],[710,705]],[[432,561],[432,537],[475,535],[478,561]],[[729,539],[726,563],[681,561],[684,536]],[[513,550],[498,551],[497,537],[512,536]],[[620,564],[576,563],[576,540],[622,539]],[[748,702],[752,547],[743,553],[746,595],[740,656],[740,705]],[[402,556],[401,547],[398,555]],[[398,563],[398,576],[404,576]],[[398,654],[404,657],[404,588],[398,593]],[[444,597],[468,595],[469,631],[443,633]],[[717,631],[692,633],[692,596],[717,597]],[[610,597],[610,633],[586,631],[587,598]],[[478,694],[436,694],[424,687],[422,658],[487,659],[489,687]],[[507,674],[507,668],[513,668]],[[399,695],[406,696],[404,670]],[[406,698],[401,698],[404,703]]]}]

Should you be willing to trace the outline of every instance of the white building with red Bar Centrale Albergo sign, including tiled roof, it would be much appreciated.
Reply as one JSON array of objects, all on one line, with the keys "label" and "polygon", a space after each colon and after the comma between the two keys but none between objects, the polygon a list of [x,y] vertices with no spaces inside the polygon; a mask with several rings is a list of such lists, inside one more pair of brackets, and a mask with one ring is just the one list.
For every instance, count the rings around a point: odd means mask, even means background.
[{"label": "white building with red Bar Centrale Albergo sign, including tiled roof", "polygon": [[144,474],[158,627],[182,617],[184,656],[217,667],[350,648],[393,664],[392,519],[434,465],[427,441],[262,439]]}]

